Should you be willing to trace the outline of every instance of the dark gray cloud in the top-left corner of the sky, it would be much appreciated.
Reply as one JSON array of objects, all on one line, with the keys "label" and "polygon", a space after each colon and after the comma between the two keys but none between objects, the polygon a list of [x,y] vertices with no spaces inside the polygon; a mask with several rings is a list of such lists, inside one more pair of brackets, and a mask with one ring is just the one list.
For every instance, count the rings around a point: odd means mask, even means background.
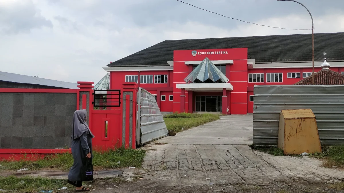
[{"label": "dark gray cloud in the top-left corner of the sky", "polygon": [[31,0],[5,1],[0,3],[0,32],[4,34],[29,33],[32,29],[53,27]]}]

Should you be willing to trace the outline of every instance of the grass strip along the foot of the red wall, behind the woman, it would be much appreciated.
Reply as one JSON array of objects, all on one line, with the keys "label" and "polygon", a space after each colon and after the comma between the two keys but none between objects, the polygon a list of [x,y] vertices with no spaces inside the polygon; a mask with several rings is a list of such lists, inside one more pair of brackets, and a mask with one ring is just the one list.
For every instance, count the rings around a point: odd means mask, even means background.
[{"label": "grass strip along the foot of the red wall, behind the woman", "polygon": [[[95,170],[115,169],[123,167],[141,167],[145,150],[118,148],[103,152],[93,152],[93,166]],[[119,162],[117,164],[117,162]],[[28,168],[29,170],[39,170],[43,168],[54,168],[59,170],[69,170],[73,164],[72,154],[56,154],[46,156],[44,159],[27,161],[0,161],[0,170],[19,170]],[[1,186],[0,186],[1,187]]]}]

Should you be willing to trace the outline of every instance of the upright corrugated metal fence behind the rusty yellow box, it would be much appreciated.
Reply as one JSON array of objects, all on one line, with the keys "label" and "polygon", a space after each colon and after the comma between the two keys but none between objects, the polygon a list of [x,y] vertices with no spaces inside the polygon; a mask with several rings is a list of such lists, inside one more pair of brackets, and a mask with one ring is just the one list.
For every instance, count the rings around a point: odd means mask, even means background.
[{"label": "upright corrugated metal fence behind the rusty yellow box", "polygon": [[344,144],[344,85],[255,86],[253,144],[277,145],[283,109],[312,109],[322,145]]}]

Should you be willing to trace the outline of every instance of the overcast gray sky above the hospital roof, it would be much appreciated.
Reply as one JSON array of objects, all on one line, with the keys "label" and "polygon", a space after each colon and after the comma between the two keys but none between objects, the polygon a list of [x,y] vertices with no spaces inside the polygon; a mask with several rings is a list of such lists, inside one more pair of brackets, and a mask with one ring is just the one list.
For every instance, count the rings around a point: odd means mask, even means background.
[{"label": "overcast gray sky above the hospital roof", "polygon": [[[183,0],[229,17],[311,28],[295,2]],[[344,32],[343,0],[299,0],[315,33]],[[0,0],[0,71],[98,82],[110,61],[166,39],[311,33],[224,18],[176,0]]]}]

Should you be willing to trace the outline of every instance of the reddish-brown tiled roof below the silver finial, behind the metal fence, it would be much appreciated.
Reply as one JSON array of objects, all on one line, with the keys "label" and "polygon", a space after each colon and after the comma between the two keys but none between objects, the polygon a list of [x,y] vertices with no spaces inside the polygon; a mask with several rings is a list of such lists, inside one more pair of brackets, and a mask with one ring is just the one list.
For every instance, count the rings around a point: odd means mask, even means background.
[{"label": "reddish-brown tiled roof below the silver finial, behind the metal fence", "polygon": [[[294,85],[312,85],[313,75],[300,80]],[[315,85],[337,85],[344,84],[344,75],[329,69],[322,69],[319,72],[314,73]]]}]

